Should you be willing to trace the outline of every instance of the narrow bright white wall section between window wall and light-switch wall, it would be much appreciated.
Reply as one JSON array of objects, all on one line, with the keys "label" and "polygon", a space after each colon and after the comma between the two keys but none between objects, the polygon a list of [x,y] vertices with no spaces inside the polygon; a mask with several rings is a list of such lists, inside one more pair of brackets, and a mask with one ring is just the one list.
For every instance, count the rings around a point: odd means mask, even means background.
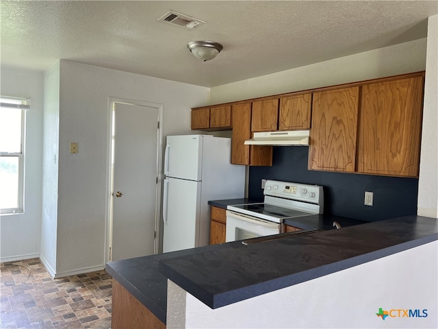
[{"label": "narrow bright white wall section between window wall and light-switch wall", "polygon": [[51,276],[56,273],[58,139],[60,127],[60,62],[44,73],[44,134],[40,259]]}]

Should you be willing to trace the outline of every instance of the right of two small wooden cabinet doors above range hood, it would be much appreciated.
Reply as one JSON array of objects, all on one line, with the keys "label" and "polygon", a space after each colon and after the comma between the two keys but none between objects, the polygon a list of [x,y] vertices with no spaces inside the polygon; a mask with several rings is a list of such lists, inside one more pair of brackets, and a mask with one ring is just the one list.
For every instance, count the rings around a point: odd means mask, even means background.
[{"label": "right of two small wooden cabinet doors above range hood", "polygon": [[312,94],[281,97],[279,130],[310,129]]}]

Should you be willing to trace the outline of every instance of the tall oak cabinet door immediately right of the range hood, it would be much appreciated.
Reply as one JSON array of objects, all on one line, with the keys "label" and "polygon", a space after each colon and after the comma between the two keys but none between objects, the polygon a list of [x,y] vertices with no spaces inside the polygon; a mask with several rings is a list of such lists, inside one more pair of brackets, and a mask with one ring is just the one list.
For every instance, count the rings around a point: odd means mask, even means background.
[{"label": "tall oak cabinet door immediately right of the range hood", "polygon": [[359,87],[313,94],[309,169],[355,171]]}]

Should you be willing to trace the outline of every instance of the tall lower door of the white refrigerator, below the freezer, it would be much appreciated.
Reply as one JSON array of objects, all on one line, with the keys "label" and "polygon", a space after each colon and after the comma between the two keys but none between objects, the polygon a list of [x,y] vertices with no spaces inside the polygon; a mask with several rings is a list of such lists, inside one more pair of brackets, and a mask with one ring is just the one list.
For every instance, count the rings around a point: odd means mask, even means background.
[{"label": "tall lower door of the white refrigerator, below the freezer", "polygon": [[201,182],[166,178],[163,252],[198,247]]}]

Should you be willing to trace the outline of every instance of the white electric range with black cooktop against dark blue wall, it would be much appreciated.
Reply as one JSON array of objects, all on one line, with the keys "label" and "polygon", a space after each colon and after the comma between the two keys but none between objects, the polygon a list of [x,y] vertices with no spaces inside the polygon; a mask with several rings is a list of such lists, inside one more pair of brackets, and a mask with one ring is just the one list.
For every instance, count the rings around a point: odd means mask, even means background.
[{"label": "white electric range with black cooktop against dark blue wall", "polygon": [[279,234],[287,218],[322,214],[322,186],[267,180],[261,203],[227,206],[226,241]]}]

